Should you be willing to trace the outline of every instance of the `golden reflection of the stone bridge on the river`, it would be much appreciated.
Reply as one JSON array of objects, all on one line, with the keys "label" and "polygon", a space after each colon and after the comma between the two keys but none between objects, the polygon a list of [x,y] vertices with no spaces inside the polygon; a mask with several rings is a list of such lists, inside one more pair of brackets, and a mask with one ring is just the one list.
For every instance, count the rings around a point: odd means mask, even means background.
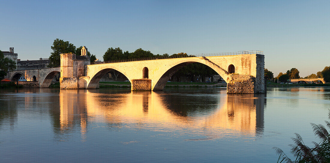
[{"label": "golden reflection of the stone bridge on the river", "polygon": [[262,135],[265,94],[223,93],[219,96],[129,90],[60,90],[59,115],[53,117],[55,137],[63,140],[69,133],[80,130],[84,140],[88,125],[95,123],[107,128],[182,131],[182,134],[203,135],[206,139],[229,134],[234,137]]}]

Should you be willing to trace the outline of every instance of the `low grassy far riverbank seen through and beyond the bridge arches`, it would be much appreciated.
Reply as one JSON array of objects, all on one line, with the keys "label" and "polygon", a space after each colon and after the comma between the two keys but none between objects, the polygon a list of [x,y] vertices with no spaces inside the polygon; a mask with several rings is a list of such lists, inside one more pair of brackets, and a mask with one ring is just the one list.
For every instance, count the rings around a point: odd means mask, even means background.
[{"label": "low grassy far riverbank seen through and beyond the bridge arches", "polygon": [[[111,82],[100,82],[99,88],[131,88],[129,81],[111,81]],[[173,87],[227,87],[226,83],[215,83],[215,82],[167,82],[165,88]],[[280,83],[268,83],[267,87],[330,87],[330,83],[325,84],[280,84]],[[14,82],[1,83],[0,88],[2,89],[14,89],[23,88],[21,85],[16,85]],[[49,88],[60,88],[59,82],[52,84]]]}]

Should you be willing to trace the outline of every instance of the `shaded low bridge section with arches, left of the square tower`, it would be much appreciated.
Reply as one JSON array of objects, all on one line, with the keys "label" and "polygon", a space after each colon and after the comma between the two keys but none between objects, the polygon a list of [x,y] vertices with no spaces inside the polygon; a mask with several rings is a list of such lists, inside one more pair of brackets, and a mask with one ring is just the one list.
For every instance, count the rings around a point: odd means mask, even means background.
[{"label": "shaded low bridge section with arches, left of the square tower", "polygon": [[48,88],[52,79],[56,74],[60,73],[61,68],[43,68],[43,69],[28,69],[8,71],[8,78],[12,81],[18,81],[21,76],[24,76],[27,81],[33,81],[39,88]]}]

